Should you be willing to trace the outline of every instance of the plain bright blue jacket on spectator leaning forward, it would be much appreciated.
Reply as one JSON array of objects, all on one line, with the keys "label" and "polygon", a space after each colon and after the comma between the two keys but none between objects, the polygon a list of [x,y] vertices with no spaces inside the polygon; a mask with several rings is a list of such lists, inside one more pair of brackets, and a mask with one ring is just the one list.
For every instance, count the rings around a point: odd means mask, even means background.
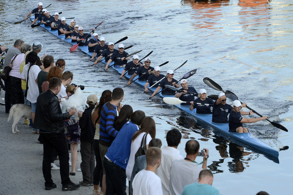
[{"label": "plain bright blue jacket on spectator leaning forward", "polygon": [[125,123],[106,153],[114,164],[125,170],[130,156],[131,138],[138,130],[139,126],[131,121]]}]

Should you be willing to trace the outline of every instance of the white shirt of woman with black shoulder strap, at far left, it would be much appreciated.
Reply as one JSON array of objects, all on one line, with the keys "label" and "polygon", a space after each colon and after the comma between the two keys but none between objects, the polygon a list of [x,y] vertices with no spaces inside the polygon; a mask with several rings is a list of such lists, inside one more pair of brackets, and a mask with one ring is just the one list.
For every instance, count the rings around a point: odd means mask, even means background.
[{"label": "white shirt of woman with black shoulder strap, at far left", "polygon": [[[29,69],[30,63],[24,65],[24,70],[21,73],[21,78],[27,80],[27,71]],[[27,90],[27,100],[31,103],[36,103],[39,96],[38,83],[36,79],[38,78],[38,73],[41,71],[40,67],[37,65],[31,66],[30,72],[28,73],[28,90]]]}]

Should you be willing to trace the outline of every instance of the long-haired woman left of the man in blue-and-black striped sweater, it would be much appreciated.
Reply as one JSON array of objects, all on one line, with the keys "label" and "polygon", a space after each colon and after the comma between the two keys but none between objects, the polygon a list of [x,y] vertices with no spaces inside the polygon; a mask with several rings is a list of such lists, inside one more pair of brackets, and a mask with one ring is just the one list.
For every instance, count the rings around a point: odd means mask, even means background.
[{"label": "long-haired woman left of the man in blue-and-black striped sweater", "polygon": [[[94,177],[93,177],[93,184],[94,184],[94,190],[93,195],[99,194],[99,184],[102,183],[102,177],[103,177],[103,169],[102,169],[102,160],[100,156],[100,150],[99,150],[99,138],[100,138],[100,114],[101,110],[103,108],[103,105],[111,101],[111,94],[112,92],[110,90],[104,90],[99,103],[96,105],[96,108],[92,111],[92,123],[93,126],[96,127],[95,137],[93,141],[93,147],[95,151],[95,158],[96,158],[96,167],[94,169]],[[101,190],[103,191],[103,187],[101,186]]]}]

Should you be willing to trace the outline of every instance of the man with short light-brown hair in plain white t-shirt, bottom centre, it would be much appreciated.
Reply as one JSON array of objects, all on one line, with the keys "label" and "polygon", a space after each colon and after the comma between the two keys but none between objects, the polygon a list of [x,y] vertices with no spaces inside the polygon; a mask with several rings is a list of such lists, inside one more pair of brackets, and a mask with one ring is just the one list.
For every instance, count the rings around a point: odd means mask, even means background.
[{"label": "man with short light-brown hair in plain white t-shirt, bottom centre", "polygon": [[133,179],[133,195],[162,195],[162,184],[159,176],[155,174],[161,164],[161,149],[149,147],[146,153],[147,168],[141,170]]}]

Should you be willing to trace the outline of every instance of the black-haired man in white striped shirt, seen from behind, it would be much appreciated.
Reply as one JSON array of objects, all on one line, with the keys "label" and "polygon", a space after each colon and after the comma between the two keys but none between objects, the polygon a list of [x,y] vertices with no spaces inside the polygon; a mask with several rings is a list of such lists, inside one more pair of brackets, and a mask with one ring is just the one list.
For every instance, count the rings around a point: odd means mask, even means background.
[{"label": "black-haired man in white striped shirt, seen from behind", "polygon": [[164,195],[169,195],[170,167],[174,160],[182,160],[183,156],[177,149],[181,142],[181,133],[178,129],[168,131],[166,140],[168,146],[162,148],[161,166],[157,169],[156,174],[161,178]]}]

